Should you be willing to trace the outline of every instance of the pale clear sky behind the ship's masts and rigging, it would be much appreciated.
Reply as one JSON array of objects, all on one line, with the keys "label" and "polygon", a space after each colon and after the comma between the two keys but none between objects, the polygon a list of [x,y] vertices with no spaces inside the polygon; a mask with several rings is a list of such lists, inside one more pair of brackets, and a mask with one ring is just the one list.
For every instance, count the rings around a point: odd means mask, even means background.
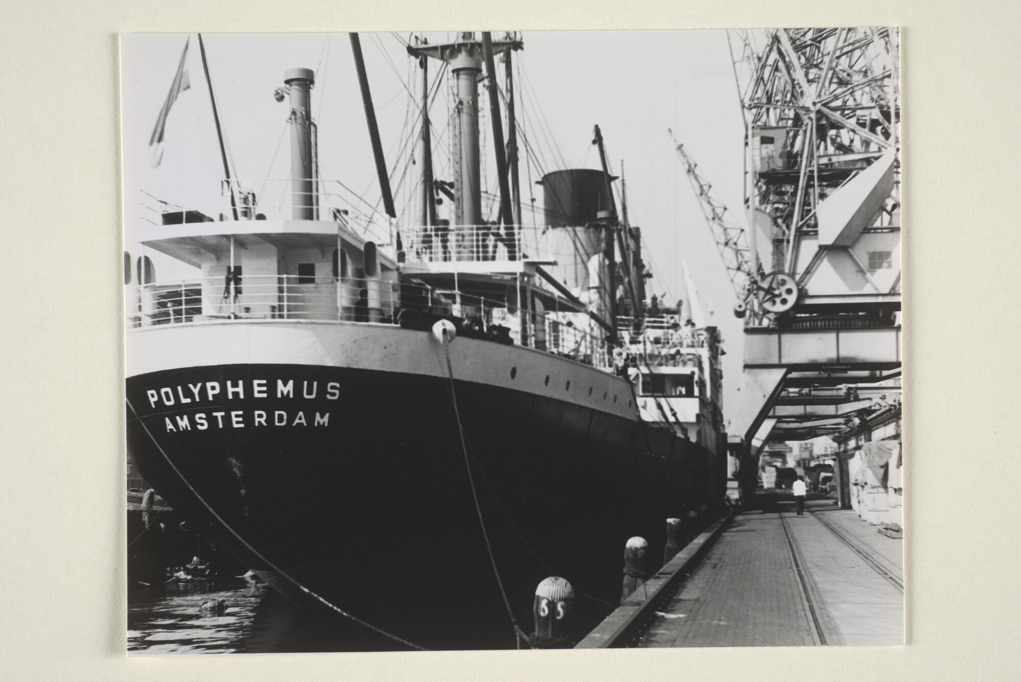
[{"label": "pale clear sky behind the ship's masts and rigging", "polygon": [[[452,34],[427,34],[431,43]],[[494,32],[498,39],[502,32]],[[400,205],[414,194],[416,166],[400,153],[401,141],[412,128],[408,84],[417,94],[419,78],[405,43],[409,34],[362,34],[373,100],[387,163],[396,168],[392,184]],[[380,197],[372,148],[350,42],[345,34],[208,34],[203,35],[209,77],[221,123],[239,178],[253,189],[273,188],[271,179],[287,178],[289,146],[283,137],[286,103],[274,100],[283,85],[284,69],[315,70],[312,113],[320,131],[321,177],[335,179],[369,202]],[[743,123],[727,36],[723,31],[661,32],[526,32],[524,50],[515,54],[522,68],[518,78],[519,117],[527,118],[531,144],[542,170],[598,167],[592,129],[598,125],[611,165],[627,180],[628,209],[633,226],[642,229],[643,256],[654,275],[649,294],[676,300],[682,292],[681,263],[686,261],[710,324],[724,337],[724,407],[736,390],[741,372],[742,322],[731,308],[733,289],[712,234],[673,143],[678,140],[695,158],[719,196],[743,224],[741,175]],[[187,69],[191,88],[181,94],[166,120],[164,152],[153,168],[149,138],[188,42]],[[125,235],[129,247],[137,240],[142,191],[174,193],[175,186],[201,183],[215,191],[223,178],[216,132],[194,34],[130,34],[121,36],[121,112],[124,136]],[[431,75],[438,72],[431,62]],[[498,69],[500,65],[498,64]],[[443,156],[447,134],[446,103],[440,93],[432,109],[434,153]],[[480,106],[487,107],[484,90]],[[505,121],[504,121],[505,123]],[[484,121],[483,125],[488,125]],[[541,131],[541,133],[540,133]],[[495,167],[491,135],[483,160]],[[403,168],[409,173],[397,182]],[[522,163],[523,203],[530,191],[542,204],[540,177]],[[439,176],[441,170],[437,172]],[[266,184],[268,183],[268,184]],[[492,191],[496,191],[495,183]],[[264,195],[269,196],[269,195]],[[160,280],[193,275],[189,266],[153,255]]]}]

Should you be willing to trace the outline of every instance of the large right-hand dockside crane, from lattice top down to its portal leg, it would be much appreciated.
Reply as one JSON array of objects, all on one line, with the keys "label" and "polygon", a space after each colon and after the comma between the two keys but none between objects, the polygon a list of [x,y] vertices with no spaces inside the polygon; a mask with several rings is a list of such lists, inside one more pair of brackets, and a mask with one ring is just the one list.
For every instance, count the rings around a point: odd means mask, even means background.
[{"label": "large right-hand dockside crane, from lattice top down to its portal leg", "polygon": [[750,272],[767,273],[752,298],[768,314],[745,321],[731,412],[755,456],[774,427],[795,426],[773,410],[785,389],[900,376],[898,37],[828,28],[728,38]]}]

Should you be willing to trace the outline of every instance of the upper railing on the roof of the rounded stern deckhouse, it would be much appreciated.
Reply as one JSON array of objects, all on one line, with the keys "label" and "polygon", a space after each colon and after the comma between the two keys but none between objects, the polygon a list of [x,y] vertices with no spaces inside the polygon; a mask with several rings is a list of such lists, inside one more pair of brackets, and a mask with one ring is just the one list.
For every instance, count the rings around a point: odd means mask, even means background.
[{"label": "upper railing on the roof of the rounded stern deckhouse", "polygon": [[139,207],[139,217],[157,226],[222,221],[327,221],[340,223],[379,244],[393,241],[389,217],[339,180],[277,178],[164,185],[140,190]]}]

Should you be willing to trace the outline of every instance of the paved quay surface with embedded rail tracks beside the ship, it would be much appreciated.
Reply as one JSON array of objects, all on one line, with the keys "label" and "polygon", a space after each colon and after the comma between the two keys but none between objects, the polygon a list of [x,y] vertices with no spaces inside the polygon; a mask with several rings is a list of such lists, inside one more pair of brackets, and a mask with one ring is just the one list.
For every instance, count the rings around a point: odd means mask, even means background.
[{"label": "paved quay surface with embedded rail tracks beside the ship", "polygon": [[806,506],[760,491],[639,646],[903,644],[903,540],[832,499]]}]

